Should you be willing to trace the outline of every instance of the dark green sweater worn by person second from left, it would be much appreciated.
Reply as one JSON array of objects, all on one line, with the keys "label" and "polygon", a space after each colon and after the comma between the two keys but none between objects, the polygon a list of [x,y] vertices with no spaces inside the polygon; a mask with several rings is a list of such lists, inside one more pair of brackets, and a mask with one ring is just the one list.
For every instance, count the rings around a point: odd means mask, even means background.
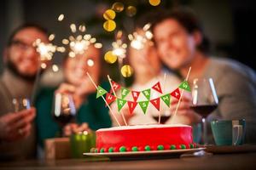
[{"label": "dark green sweater worn by person second from left", "polygon": [[[102,83],[102,88],[108,90],[107,82]],[[44,139],[55,138],[61,132],[61,128],[52,116],[53,99],[56,88],[42,88],[36,100],[38,142],[44,146]],[[108,107],[103,99],[96,99],[96,93],[90,94],[76,114],[76,122],[87,122],[92,130],[111,127],[112,122],[108,115]]]}]

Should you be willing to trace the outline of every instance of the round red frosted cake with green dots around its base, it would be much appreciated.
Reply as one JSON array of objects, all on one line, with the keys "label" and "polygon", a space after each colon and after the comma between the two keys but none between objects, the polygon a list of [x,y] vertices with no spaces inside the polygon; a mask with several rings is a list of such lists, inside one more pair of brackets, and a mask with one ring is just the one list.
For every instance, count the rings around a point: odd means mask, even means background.
[{"label": "round red frosted cake with green dots around its base", "polygon": [[187,125],[137,125],[96,131],[91,152],[179,150],[195,148],[192,127]]}]

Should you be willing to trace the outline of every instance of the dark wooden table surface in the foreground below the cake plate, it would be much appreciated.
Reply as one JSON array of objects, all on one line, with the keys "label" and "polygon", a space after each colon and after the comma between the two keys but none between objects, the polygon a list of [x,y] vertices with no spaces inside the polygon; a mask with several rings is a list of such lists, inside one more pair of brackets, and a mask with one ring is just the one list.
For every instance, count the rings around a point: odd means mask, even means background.
[{"label": "dark wooden table surface in the foreground below the cake plate", "polygon": [[137,161],[82,159],[0,162],[0,169],[256,169],[256,152]]}]

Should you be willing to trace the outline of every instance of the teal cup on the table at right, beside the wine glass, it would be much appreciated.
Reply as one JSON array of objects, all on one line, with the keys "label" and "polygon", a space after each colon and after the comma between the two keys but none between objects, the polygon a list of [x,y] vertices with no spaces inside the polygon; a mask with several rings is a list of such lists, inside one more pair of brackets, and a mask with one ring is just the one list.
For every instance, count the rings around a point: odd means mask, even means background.
[{"label": "teal cup on the table at right, beside the wine glass", "polygon": [[216,145],[240,145],[245,138],[244,119],[212,121],[212,134]]}]

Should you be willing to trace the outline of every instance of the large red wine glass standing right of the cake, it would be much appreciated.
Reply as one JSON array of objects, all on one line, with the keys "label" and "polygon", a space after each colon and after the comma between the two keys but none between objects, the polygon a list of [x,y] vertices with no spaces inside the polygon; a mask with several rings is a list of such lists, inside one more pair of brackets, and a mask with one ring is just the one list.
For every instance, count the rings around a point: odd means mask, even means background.
[{"label": "large red wine glass standing right of the cake", "polygon": [[218,106],[218,96],[212,78],[194,79],[192,87],[192,105],[196,113],[202,116],[202,141],[207,145],[207,116]]}]

